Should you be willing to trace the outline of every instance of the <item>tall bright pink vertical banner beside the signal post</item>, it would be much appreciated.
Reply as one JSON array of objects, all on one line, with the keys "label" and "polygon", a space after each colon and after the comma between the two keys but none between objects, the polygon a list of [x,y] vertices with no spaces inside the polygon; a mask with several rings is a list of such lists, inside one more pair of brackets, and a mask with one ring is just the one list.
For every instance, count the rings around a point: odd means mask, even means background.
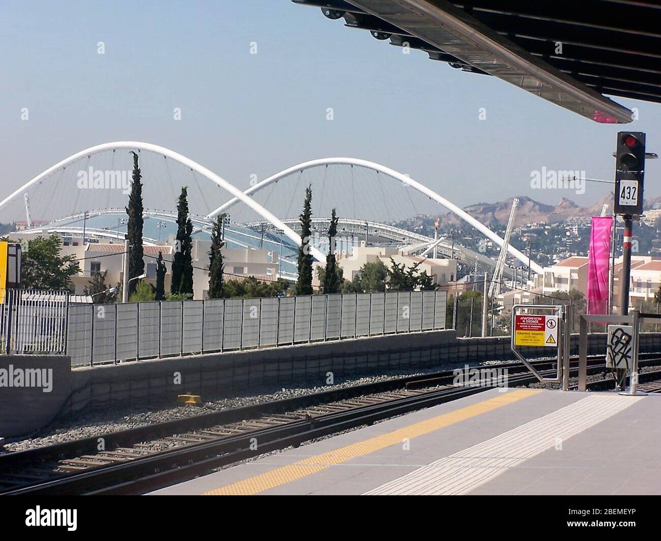
[{"label": "tall bright pink vertical banner beside the signal post", "polygon": [[588,314],[608,313],[612,217],[593,217],[588,254]]}]

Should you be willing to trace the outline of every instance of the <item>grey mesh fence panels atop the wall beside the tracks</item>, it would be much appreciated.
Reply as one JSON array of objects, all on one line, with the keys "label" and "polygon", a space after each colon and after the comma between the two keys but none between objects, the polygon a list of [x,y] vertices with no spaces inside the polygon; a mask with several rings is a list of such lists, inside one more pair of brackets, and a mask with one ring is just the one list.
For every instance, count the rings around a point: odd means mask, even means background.
[{"label": "grey mesh fence panels atop the wall beside the tracks", "polygon": [[446,328],[446,291],[70,305],[71,364]]}]

